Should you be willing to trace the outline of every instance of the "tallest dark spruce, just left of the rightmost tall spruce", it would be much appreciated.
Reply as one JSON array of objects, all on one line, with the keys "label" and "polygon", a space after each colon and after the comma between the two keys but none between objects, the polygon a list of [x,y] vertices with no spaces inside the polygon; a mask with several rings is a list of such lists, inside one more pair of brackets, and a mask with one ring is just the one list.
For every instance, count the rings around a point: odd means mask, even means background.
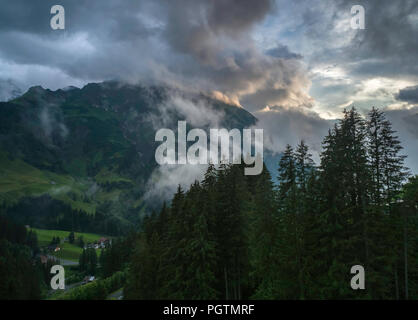
[{"label": "tallest dark spruce, just left of the rightmost tall spruce", "polygon": [[328,241],[324,268],[325,297],[352,297],[346,274],[351,266],[367,268],[369,256],[366,207],[369,174],[365,121],[355,108],[325,138],[321,154],[321,186],[325,203],[322,221]]}]

